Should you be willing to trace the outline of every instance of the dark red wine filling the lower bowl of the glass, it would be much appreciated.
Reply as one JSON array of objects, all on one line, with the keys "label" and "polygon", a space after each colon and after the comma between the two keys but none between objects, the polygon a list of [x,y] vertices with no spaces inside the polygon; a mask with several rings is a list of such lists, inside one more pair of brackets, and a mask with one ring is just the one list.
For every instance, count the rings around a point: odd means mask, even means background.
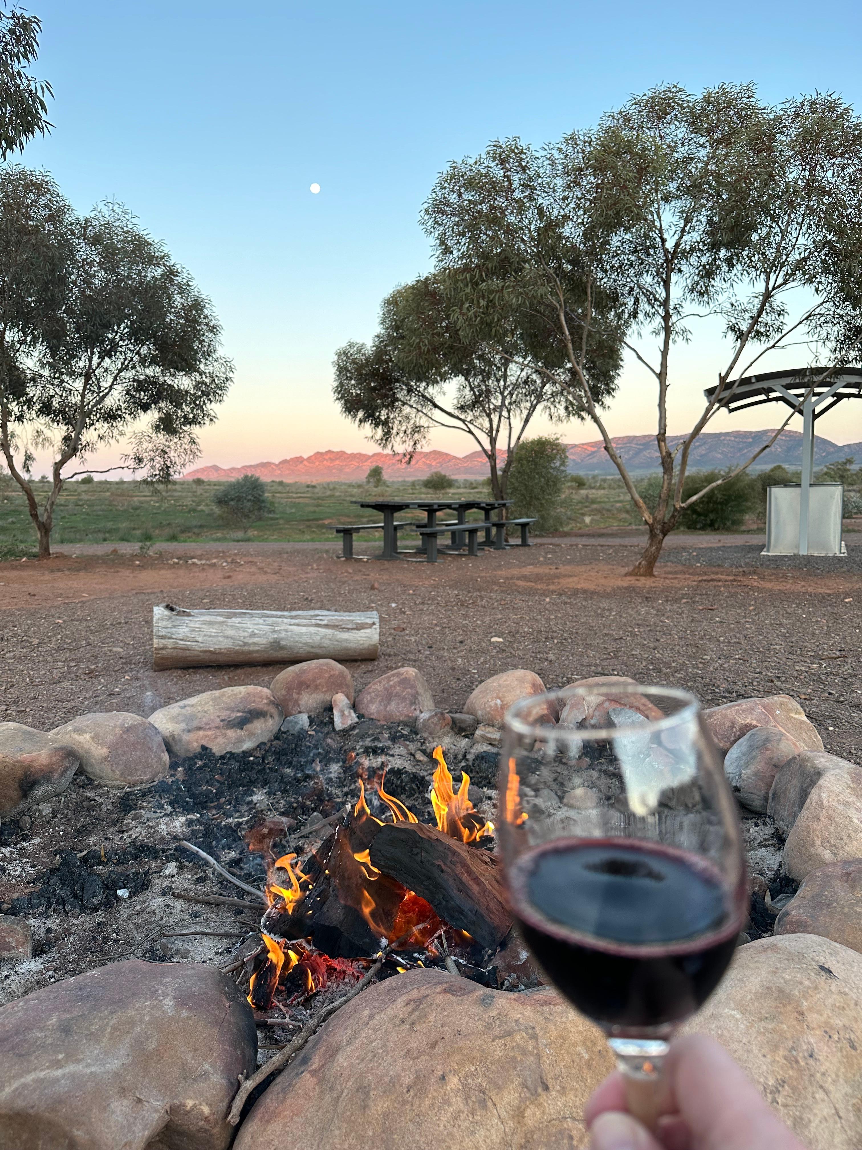
[{"label": "dark red wine filling the lower bowl of the glass", "polygon": [[605,1027],[676,1022],[724,974],[740,923],[698,856],[636,839],[559,839],[509,877],[521,933],[574,1006]]}]

